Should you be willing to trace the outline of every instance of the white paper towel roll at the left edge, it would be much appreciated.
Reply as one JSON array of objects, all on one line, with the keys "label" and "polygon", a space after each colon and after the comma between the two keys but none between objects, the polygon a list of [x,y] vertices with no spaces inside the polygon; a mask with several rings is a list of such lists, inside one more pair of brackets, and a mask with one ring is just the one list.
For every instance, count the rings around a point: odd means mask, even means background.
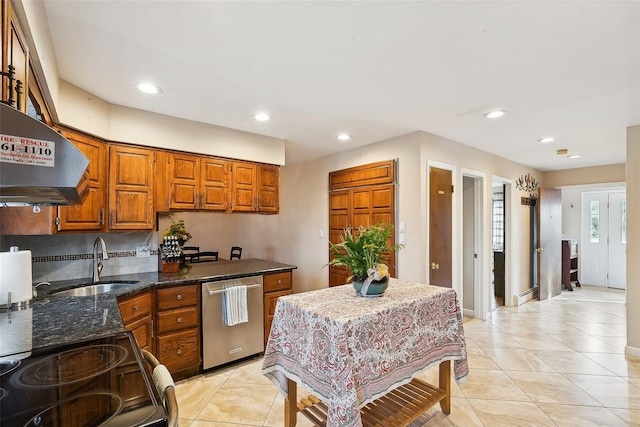
[{"label": "white paper towel roll at the left edge", "polygon": [[29,302],[32,297],[31,251],[0,252],[0,307]]}]

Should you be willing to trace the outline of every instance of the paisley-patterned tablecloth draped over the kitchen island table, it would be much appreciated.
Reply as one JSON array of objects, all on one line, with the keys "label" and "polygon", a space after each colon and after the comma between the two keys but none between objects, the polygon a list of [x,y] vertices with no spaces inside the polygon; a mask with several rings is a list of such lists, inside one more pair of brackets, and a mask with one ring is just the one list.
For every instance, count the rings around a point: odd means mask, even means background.
[{"label": "paisley-patterned tablecloth draped over the kitchen island table", "polygon": [[453,360],[469,369],[452,289],[391,279],[382,297],[351,285],[280,297],[262,373],[287,396],[287,378],[329,407],[327,426],[361,426],[360,408],[426,368]]}]

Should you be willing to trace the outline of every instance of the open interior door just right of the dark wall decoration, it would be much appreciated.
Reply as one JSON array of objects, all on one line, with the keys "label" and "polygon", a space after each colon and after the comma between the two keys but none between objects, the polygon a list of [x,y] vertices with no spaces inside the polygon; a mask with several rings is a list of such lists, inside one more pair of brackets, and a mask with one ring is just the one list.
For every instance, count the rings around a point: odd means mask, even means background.
[{"label": "open interior door just right of the dark wall decoration", "polygon": [[562,192],[538,189],[538,299],[562,292]]}]

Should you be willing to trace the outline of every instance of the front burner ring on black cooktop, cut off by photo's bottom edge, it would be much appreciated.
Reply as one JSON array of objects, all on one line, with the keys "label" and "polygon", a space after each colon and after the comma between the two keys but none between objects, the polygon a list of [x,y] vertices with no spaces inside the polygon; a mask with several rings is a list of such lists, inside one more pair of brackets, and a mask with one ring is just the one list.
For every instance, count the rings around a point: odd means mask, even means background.
[{"label": "front burner ring on black cooktop, cut off by photo's bottom edge", "polygon": [[[78,408],[81,414],[78,414]],[[71,412],[73,410],[73,413]],[[57,405],[53,405],[39,412],[31,418],[24,427],[42,427],[49,425],[59,425],[60,418],[64,414],[70,417],[63,419],[62,425],[71,424],[76,419],[72,417],[82,416],[82,425],[102,425],[116,417],[122,410],[122,399],[113,393],[91,393],[81,396],[74,396],[71,399],[63,400]]]}]

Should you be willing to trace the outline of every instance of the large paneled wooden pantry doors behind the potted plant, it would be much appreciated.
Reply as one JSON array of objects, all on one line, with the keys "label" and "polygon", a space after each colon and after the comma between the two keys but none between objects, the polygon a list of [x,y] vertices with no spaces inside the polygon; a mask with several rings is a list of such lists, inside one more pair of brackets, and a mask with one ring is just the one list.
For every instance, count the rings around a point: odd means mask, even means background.
[{"label": "large paneled wooden pantry doors behind the potted plant", "polygon": [[[329,243],[340,243],[346,228],[380,223],[395,226],[394,170],[395,162],[388,161],[329,174]],[[389,239],[389,245],[394,244],[395,229]],[[395,253],[388,265],[389,274],[396,277]],[[329,286],[344,285],[349,276],[346,267],[330,266]]]}]

